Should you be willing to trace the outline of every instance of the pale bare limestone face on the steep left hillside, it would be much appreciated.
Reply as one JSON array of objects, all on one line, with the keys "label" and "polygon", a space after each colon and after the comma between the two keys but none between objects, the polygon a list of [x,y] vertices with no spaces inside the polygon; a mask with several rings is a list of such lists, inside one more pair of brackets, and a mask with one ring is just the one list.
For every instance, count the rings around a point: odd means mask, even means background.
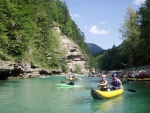
[{"label": "pale bare limestone face on the steep left hillside", "polygon": [[64,58],[67,61],[68,68],[73,72],[78,70],[79,73],[88,73],[88,70],[85,68],[87,57],[83,54],[77,44],[70,40],[66,36],[60,36],[60,51],[64,52]]}]

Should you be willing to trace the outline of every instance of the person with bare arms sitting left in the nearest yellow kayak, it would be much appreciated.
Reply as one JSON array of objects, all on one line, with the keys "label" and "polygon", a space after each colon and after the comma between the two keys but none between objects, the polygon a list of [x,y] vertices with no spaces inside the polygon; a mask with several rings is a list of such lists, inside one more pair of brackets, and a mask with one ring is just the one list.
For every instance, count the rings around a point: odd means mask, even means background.
[{"label": "person with bare arms sitting left in the nearest yellow kayak", "polygon": [[106,80],[106,75],[102,75],[102,80],[98,83],[98,87],[100,87],[101,91],[107,91],[107,80]]}]

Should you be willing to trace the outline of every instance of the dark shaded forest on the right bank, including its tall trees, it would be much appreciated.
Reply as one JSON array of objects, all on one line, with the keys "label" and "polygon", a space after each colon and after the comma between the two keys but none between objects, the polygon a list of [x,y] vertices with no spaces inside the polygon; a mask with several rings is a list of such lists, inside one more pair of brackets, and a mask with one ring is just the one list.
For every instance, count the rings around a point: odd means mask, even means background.
[{"label": "dark shaded forest on the right bank, including its tall trees", "polygon": [[150,64],[150,0],[134,11],[128,7],[119,29],[122,44],[95,57],[102,70],[125,69]]}]

